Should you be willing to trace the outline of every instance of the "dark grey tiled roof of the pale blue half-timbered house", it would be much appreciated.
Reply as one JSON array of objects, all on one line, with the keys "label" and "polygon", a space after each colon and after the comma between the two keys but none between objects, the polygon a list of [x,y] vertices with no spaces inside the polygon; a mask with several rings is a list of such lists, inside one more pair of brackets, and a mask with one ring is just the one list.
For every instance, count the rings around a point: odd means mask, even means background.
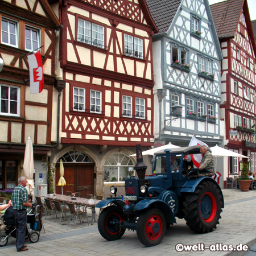
[{"label": "dark grey tiled roof of the pale blue half-timbered house", "polygon": [[182,0],[146,0],[159,33],[168,31]]}]

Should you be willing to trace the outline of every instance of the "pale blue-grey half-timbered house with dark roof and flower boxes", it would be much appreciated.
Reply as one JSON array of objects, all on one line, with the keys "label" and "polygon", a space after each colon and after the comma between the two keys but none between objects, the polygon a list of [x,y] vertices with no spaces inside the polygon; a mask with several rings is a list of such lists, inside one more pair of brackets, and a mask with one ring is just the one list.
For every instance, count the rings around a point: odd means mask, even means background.
[{"label": "pale blue-grey half-timbered house with dark roof and flower boxes", "polygon": [[[188,146],[193,134],[221,143],[220,44],[208,1],[147,0],[153,36],[155,139]],[[182,106],[179,118],[172,111]]]}]

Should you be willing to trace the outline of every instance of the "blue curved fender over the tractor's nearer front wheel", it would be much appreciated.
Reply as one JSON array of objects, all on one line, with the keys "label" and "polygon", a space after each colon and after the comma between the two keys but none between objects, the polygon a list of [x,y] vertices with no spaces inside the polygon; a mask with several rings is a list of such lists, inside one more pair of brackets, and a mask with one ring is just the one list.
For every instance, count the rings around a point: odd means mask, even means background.
[{"label": "blue curved fender over the tractor's nearer front wheel", "polygon": [[162,210],[164,216],[166,217],[167,223],[176,223],[174,213],[172,212],[170,206],[162,200],[159,199],[144,199],[139,201],[135,205],[135,210],[142,211],[145,209],[158,208]]}]

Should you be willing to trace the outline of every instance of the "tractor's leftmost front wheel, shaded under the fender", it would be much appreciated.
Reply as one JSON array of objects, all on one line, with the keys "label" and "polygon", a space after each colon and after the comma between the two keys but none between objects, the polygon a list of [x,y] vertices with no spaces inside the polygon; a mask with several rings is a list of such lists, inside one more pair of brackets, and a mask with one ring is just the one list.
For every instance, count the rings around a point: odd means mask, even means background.
[{"label": "tractor's leftmost front wheel, shaded under the fender", "polygon": [[120,239],[125,233],[121,226],[123,220],[122,210],[114,205],[105,208],[98,217],[98,231],[106,240],[114,241]]}]

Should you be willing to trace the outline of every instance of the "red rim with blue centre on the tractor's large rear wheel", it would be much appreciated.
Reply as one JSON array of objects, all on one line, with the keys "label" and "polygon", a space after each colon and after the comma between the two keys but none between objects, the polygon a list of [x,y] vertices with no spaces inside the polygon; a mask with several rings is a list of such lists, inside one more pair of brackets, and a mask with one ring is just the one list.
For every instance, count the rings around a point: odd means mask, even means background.
[{"label": "red rim with blue centre on the tractor's large rear wheel", "polygon": [[206,192],[200,201],[200,214],[205,222],[212,222],[217,213],[216,199],[212,193]]}]

